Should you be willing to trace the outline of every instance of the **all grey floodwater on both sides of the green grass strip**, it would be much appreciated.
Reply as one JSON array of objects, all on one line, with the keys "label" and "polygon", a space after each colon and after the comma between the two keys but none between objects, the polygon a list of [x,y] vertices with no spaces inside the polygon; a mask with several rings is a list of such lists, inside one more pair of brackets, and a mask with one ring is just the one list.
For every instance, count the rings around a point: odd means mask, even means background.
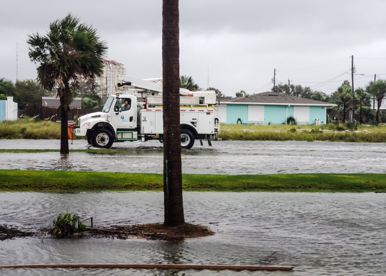
[{"label": "all grey floodwater on both sides of the green grass strip", "polygon": [[[183,172],[270,174],[386,172],[386,144],[213,141],[183,150]],[[74,141],[70,148],[83,148]],[[59,140],[1,140],[0,148],[59,149]],[[163,172],[162,144],[117,143],[116,154],[0,153],[0,168]],[[1,275],[385,275],[386,194],[184,193],[185,221],[216,235],[183,242],[144,239],[13,239],[0,264],[148,263],[295,266],[293,272],[19,269]],[[163,193],[0,193],[0,224],[39,230],[59,213],[95,226],[163,221]],[[87,221],[88,224],[90,223]],[[275,253],[278,260],[259,262]],[[184,274],[185,273],[185,274]]]}]

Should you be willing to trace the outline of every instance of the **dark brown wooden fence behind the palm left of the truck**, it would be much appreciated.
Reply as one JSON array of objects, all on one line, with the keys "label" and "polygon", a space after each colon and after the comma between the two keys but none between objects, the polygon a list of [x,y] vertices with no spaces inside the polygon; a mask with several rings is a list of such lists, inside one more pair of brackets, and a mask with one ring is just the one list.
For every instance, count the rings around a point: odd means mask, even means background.
[{"label": "dark brown wooden fence behind the palm left of the truck", "polygon": [[[70,108],[70,112],[68,112],[67,119],[69,121],[74,120],[74,117],[81,117],[83,115],[97,112],[101,110],[97,109],[81,109],[81,108]],[[24,112],[25,115],[34,117],[36,115],[39,115],[40,119],[50,119],[51,121],[60,121],[61,115],[58,108],[48,108],[45,106],[40,106],[38,104],[28,104],[26,106],[26,112]]]}]

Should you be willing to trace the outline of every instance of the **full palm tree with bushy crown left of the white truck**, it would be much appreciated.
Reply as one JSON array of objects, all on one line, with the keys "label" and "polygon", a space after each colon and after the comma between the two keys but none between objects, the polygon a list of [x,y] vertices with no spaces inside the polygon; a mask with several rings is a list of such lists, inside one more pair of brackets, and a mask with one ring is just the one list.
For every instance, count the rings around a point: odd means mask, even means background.
[{"label": "full palm tree with bushy crown left of the white truck", "polygon": [[57,90],[61,112],[61,150],[68,155],[67,113],[77,88],[77,79],[94,79],[103,73],[107,45],[91,26],[68,14],[50,23],[45,36],[28,35],[29,56],[39,64],[37,81],[48,91]]}]

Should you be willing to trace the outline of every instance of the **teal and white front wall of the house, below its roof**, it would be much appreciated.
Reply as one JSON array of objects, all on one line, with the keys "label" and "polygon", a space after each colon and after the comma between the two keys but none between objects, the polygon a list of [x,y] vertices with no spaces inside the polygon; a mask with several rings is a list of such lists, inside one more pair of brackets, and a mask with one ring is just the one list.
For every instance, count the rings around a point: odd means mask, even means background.
[{"label": "teal and white front wall of the house, below its roof", "polygon": [[[321,124],[326,124],[325,106],[258,106],[256,108],[256,105],[227,104],[226,109],[223,110],[226,110],[226,120],[220,117],[220,121],[226,121],[227,124],[237,124],[238,119],[242,124],[283,124],[287,121],[287,117],[295,117],[294,115],[301,118],[298,124],[315,124],[316,119],[321,120]],[[253,116],[252,110],[256,110],[258,116]]]}]

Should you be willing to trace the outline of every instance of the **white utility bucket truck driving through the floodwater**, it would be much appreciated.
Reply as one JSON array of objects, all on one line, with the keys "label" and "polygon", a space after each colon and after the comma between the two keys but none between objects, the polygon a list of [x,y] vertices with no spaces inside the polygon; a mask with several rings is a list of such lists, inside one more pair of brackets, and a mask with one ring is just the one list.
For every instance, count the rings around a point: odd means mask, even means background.
[{"label": "white utility bucket truck driving through the floodwater", "polygon": [[[114,142],[163,142],[162,79],[134,79],[119,76],[120,92],[108,97],[101,112],[79,117],[75,135],[85,136],[96,148],[110,148]],[[194,139],[211,139],[219,134],[214,91],[180,89],[181,147],[192,148]],[[176,115],[178,116],[178,115]]]}]

